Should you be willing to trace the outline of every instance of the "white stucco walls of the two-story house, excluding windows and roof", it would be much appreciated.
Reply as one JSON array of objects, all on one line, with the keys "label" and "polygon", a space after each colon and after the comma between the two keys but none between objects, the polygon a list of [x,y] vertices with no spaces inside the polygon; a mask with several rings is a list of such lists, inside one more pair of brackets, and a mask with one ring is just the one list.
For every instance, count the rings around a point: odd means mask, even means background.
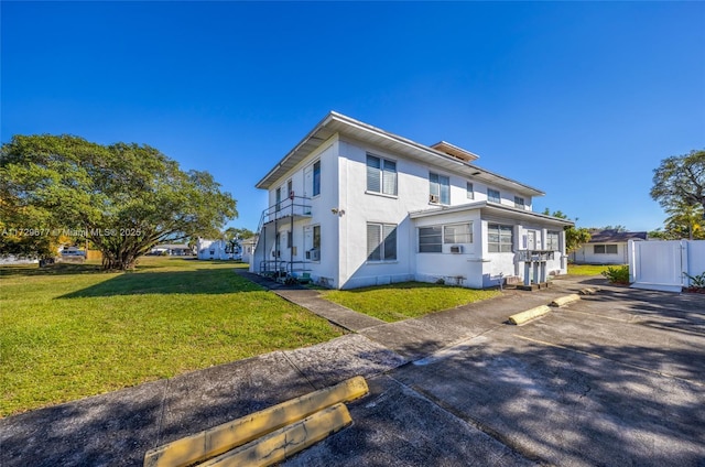
[{"label": "white stucco walls of the two-story house, excluding windows and roof", "polygon": [[[395,161],[398,176],[398,195],[371,194],[367,192],[367,154]],[[451,205],[466,205],[487,199],[485,183],[447,171],[430,167],[426,164],[388,153],[367,143],[336,134],[282,176],[269,189],[270,206],[275,204],[275,191],[281,187],[281,197],[289,195],[288,181],[292,180],[296,196],[311,196],[306,186],[306,167],[321,160],[321,195],[311,199],[312,217],[300,218],[294,224],[293,245],[296,247],[294,261],[305,259],[305,229],[314,225],[321,226],[321,261],[306,263],[315,282],[323,282],[335,289],[356,289],[366,285],[387,284],[419,280],[436,282],[444,279],[446,283],[458,283],[468,287],[484,287],[498,284],[499,274],[521,275],[523,272],[514,263],[512,253],[487,252],[487,224],[480,218],[479,209],[434,216],[412,220],[410,211],[435,209],[436,204],[429,202],[429,173],[434,172],[449,177]],[[474,184],[474,197],[467,197],[466,183]],[[516,193],[500,187],[501,204],[514,207]],[[531,197],[524,198],[524,209],[531,210]],[[336,209],[337,213],[332,210]],[[443,253],[419,253],[416,228],[421,225],[438,225],[454,222],[473,222],[474,242],[463,245],[462,253],[451,253],[451,246],[444,245]],[[367,225],[397,225],[397,260],[370,262],[367,260]],[[425,222],[425,224],[424,224]],[[492,222],[492,221],[490,221]],[[513,220],[498,220],[499,224],[514,226],[514,251],[519,248],[521,231]],[[281,237],[281,260],[290,260],[286,248],[286,231],[291,229],[289,220],[278,226]],[[556,227],[556,230],[561,230]],[[545,241],[545,229],[541,241]],[[267,231],[267,259],[272,259],[274,249],[273,229]],[[563,238],[562,238],[562,241]],[[260,236],[262,242],[262,236]],[[564,243],[562,243],[564,245]],[[260,246],[258,246],[258,253]],[[560,253],[556,262],[560,264]],[[261,257],[256,257],[250,270],[257,272]],[[550,268],[549,270],[558,268]]]}]

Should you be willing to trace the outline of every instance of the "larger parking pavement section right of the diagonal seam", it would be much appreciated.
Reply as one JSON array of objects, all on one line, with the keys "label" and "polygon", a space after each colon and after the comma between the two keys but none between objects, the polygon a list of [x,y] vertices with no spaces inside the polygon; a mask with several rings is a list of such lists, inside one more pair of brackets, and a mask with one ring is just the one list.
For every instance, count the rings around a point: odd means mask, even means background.
[{"label": "larger parking pavement section right of the diagonal seam", "polygon": [[684,327],[705,314],[650,295],[598,294],[391,376],[542,463],[702,466],[705,335]]}]

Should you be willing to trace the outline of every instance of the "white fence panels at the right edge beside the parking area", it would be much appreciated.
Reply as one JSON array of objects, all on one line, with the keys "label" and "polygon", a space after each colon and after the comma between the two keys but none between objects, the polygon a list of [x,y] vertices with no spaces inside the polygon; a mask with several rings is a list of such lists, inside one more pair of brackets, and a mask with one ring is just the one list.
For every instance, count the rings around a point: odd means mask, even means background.
[{"label": "white fence panels at the right edge beside the parking area", "polygon": [[629,240],[629,282],[634,289],[681,292],[684,274],[705,272],[705,240]]}]

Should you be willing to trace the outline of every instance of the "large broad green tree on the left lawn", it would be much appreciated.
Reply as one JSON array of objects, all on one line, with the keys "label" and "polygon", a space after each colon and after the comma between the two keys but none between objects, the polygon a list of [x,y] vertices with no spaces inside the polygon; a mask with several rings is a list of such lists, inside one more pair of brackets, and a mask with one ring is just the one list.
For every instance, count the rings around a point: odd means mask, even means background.
[{"label": "large broad green tree on the left lawn", "polygon": [[237,216],[236,200],[209,173],[184,172],[147,144],[14,135],[0,150],[0,180],[6,230],[85,237],[106,269],[131,269],[163,241],[217,236]]}]

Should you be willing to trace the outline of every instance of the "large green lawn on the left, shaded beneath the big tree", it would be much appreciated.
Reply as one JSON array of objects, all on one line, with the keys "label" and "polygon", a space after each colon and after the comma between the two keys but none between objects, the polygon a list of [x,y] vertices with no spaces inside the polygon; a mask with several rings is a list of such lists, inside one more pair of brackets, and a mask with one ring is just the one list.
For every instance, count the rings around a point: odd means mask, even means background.
[{"label": "large green lawn on the left, shaded beneath the big tree", "polygon": [[235,267],[0,267],[0,416],[343,334]]}]

